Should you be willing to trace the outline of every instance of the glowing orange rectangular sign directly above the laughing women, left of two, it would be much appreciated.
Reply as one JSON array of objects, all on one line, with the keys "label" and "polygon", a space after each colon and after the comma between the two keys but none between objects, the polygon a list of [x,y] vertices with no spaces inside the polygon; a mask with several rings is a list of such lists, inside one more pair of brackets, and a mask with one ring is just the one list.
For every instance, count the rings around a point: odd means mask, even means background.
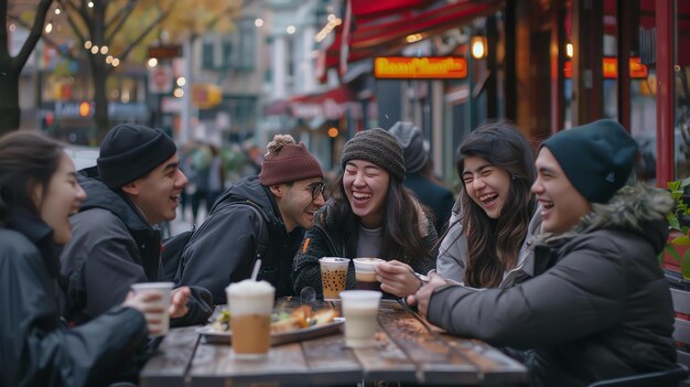
[{"label": "glowing orange rectangular sign directly above the laughing women, left of two", "polygon": [[374,58],[377,78],[466,78],[467,61],[461,56],[378,56]]}]

